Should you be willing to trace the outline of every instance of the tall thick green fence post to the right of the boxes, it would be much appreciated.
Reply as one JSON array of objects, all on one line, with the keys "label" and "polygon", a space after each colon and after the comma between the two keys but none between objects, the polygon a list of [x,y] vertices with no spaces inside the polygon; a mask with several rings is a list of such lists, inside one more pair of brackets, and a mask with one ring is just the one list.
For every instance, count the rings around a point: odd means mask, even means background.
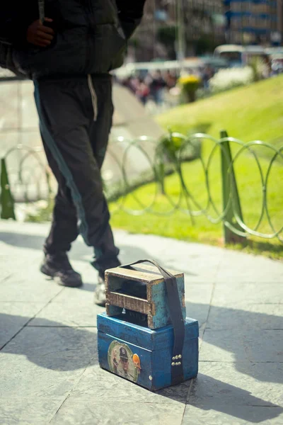
[{"label": "tall thick green fence post to the right of the boxes", "polygon": [[[221,139],[228,137],[225,130],[220,132]],[[233,166],[230,167],[232,162],[231,147],[227,140],[221,143],[221,176],[222,176],[222,196],[223,196],[223,210],[226,210],[226,215],[223,221],[224,231],[224,242],[226,244],[246,244],[246,237],[237,234],[238,232],[243,233],[243,229],[236,221],[234,210],[236,210],[238,216],[243,221],[243,215],[241,210],[240,198],[238,195],[238,188],[236,182],[236,176]],[[231,200],[230,200],[231,198]],[[229,204],[230,200],[230,204]],[[229,207],[227,208],[227,206]],[[234,229],[234,231],[233,231]]]}]

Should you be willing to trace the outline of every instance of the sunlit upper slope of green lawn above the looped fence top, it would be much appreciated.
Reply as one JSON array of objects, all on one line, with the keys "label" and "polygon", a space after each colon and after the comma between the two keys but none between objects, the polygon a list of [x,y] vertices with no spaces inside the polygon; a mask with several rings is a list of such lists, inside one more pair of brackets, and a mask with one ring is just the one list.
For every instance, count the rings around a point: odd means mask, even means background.
[{"label": "sunlit upper slope of green lawn above the looped fence top", "polygon": [[219,137],[225,129],[244,142],[264,140],[283,145],[283,76],[226,91],[157,118],[163,128],[186,133],[205,130]]}]

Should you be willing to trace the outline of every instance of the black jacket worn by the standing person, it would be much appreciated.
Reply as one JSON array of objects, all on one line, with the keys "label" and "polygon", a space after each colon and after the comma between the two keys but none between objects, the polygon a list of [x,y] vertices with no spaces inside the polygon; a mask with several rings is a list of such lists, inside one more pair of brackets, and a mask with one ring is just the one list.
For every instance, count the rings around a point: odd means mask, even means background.
[{"label": "black jacket worn by the standing person", "polygon": [[1,6],[0,38],[13,43],[16,67],[34,79],[103,74],[122,65],[145,1],[45,0],[45,16],[53,19],[56,33],[50,47],[26,42],[28,26],[39,17],[37,0],[6,1]]}]

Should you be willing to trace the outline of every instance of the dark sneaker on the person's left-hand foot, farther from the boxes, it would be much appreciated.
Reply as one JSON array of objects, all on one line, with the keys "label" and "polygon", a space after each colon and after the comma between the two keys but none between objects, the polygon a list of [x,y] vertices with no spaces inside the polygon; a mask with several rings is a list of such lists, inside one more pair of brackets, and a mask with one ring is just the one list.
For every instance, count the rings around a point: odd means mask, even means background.
[{"label": "dark sneaker on the person's left-hand foot, farther from the boxes", "polygon": [[74,271],[64,252],[57,255],[46,254],[40,271],[53,278],[58,285],[78,288],[83,284],[81,275]]}]

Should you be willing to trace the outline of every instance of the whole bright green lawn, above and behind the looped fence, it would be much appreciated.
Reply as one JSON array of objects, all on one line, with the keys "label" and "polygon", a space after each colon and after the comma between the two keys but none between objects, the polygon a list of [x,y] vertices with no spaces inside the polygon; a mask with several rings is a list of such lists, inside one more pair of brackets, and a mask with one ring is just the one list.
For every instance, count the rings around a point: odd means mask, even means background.
[{"label": "whole bright green lawn, above and behind the looped fence", "polygon": [[[235,89],[219,94],[203,101],[180,106],[160,115],[157,120],[163,128],[183,132],[205,131],[209,135],[219,137],[221,129],[227,130],[230,136],[244,142],[263,140],[274,146],[283,145],[283,76],[261,81],[251,86]],[[207,166],[209,154],[214,144],[209,141],[202,143],[202,157]],[[260,158],[263,176],[266,175],[272,151],[255,147],[255,153]],[[233,154],[237,148],[233,148]],[[212,200],[218,212],[221,212],[221,174],[219,148],[216,149],[209,167],[209,187]],[[272,225],[276,231],[283,226],[283,162],[273,164],[270,178],[267,182],[267,205]],[[193,220],[180,210],[169,214],[172,203],[178,203],[180,180],[178,175],[166,177],[166,194],[156,195],[156,184],[149,183],[138,188],[125,198],[123,206],[137,210],[137,215],[129,215],[126,211],[117,210],[117,203],[110,204],[112,210],[112,225],[127,229],[129,232],[159,234],[165,237],[197,241],[207,244],[221,245],[221,222],[214,224],[219,213],[207,206],[208,194],[204,179],[204,171],[200,160],[184,163],[183,177],[190,191],[190,207],[192,210],[204,209],[206,216],[197,216]],[[260,171],[252,155],[244,152],[235,164],[238,191],[241,198],[243,217],[246,225],[259,232],[272,234],[266,214],[263,215],[259,227],[262,208],[262,181]],[[195,200],[195,203],[194,203]],[[118,201],[122,202],[120,199]],[[154,213],[139,215],[141,207],[152,205]],[[197,204],[197,205],[196,205]],[[186,208],[185,199],[180,206]],[[168,212],[168,215],[165,215]],[[210,220],[209,218],[210,217]],[[282,234],[283,236],[283,234]],[[248,238],[248,246],[231,246],[246,252],[265,254],[276,259],[283,259],[283,244],[278,239]]]}]

